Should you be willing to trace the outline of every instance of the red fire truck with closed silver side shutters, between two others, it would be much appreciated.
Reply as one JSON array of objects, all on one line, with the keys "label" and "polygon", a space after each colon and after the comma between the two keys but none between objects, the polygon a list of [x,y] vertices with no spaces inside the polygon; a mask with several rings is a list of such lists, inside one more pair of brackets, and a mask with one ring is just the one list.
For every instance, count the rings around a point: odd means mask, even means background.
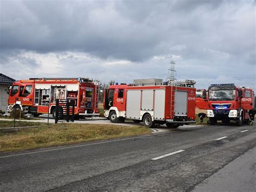
[{"label": "red fire truck with closed silver side shutters, between two others", "polygon": [[196,123],[196,88],[170,85],[110,85],[104,94],[104,115],[112,123],[131,119],[146,127],[177,128]]}]

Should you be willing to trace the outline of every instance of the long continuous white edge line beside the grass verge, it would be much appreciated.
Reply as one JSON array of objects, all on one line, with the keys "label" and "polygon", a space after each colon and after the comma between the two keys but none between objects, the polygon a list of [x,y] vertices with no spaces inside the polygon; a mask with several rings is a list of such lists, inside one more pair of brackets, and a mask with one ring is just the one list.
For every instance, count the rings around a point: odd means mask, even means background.
[{"label": "long continuous white edge line beside the grass verge", "polygon": [[11,156],[19,156],[19,155],[29,155],[29,154],[35,154],[35,153],[51,152],[52,150],[77,148],[77,147],[84,147],[84,146],[90,146],[90,145],[98,145],[98,144],[102,144],[102,143],[110,143],[110,142],[116,142],[116,141],[125,141],[125,140],[137,139],[137,138],[145,138],[145,137],[148,137],[148,136],[154,136],[154,135],[136,136],[134,138],[118,139],[118,140],[112,140],[112,141],[103,141],[103,142],[89,143],[89,144],[84,144],[84,145],[77,145],[77,146],[70,146],[70,147],[61,147],[61,148],[56,148],[56,149],[39,150],[37,152],[21,153],[21,154],[15,154],[15,155],[6,155],[6,156],[0,156],[0,159],[1,158],[6,158],[6,157],[11,157]]}]

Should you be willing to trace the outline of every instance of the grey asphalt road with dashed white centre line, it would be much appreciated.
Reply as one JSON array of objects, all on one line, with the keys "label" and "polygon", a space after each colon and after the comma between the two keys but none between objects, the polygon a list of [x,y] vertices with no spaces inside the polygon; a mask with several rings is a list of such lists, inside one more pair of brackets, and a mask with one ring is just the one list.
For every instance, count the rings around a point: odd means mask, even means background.
[{"label": "grey asphalt road with dashed white centre line", "polygon": [[219,125],[2,153],[0,189],[233,191],[219,184],[233,182],[247,191],[255,186],[255,146],[255,125]]}]

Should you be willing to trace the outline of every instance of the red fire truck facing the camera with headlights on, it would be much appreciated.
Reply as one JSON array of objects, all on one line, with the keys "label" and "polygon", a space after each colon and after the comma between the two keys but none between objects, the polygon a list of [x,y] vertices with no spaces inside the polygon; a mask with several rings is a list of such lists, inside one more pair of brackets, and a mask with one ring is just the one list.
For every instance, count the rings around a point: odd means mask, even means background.
[{"label": "red fire truck facing the camera with headlights on", "polygon": [[207,109],[210,124],[218,120],[224,124],[235,121],[238,126],[250,119],[248,112],[254,107],[254,92],[249,87],[234,84],[213,84],[208,90],[197,90],[196,106]]}]

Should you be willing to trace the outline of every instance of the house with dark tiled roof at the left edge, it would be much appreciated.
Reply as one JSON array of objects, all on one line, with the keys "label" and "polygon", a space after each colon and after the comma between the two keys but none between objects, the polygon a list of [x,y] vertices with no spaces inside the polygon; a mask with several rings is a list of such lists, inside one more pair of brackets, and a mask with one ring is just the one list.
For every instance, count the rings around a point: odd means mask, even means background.
[{"label": "house with dark tiled roof at the left edge", "polygon": [[8,106],[8,86],[14,83],[15,79],[12,79],[4,74],[0,73],[0,110],[7,113]]}]

